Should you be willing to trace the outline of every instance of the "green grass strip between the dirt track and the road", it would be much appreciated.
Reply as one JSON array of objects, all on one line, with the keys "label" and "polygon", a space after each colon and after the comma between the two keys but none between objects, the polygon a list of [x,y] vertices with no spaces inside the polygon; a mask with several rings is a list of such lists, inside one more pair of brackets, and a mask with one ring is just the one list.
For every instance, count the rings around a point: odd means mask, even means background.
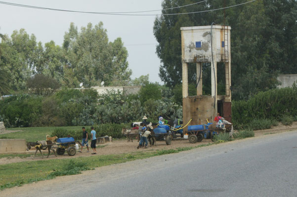
[{"label": "green grass strip between the dirt track and the road", "polygon": [[[119,155],[100,155],[84,158],[64,159],[64,160],[41,160],[35,162],[20,162],[12,164],[0,165],[0,190],[20,186],[23,184],[32,183],[46,179],[52,179],[56,176],[77,174],[82,170],[93,169],[110,164],[120,164],[128,161],[145,159],[158,155],[165,155],[170,153],[178,153],[180,151],[187,151],[193,148],[211,145],[204,144],[194,147],[184,147],[170,150],[158,151],[138,151],[130,154]],[[29,155],[29,154],[28,154]],[[72,161],[72,164],[70,164]],[[73,164],[74,163],[74,164]],[[69,165],[74,166],[73,168]],[[66,167],[65,167],[66,166]],[[77,167],[79,166],[79,167]],[[77,168],[76,168],[77,167]]]}]

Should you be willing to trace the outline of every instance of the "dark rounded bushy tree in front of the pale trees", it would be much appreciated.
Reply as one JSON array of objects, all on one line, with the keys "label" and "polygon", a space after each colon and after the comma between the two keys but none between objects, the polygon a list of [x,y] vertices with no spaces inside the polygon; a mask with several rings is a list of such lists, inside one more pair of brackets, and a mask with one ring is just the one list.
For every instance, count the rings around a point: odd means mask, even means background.
[{"label": "dark rounded bushy tree in front of the pale trees", "polygon": [[60,84],[50,76],[36,74],[28,80],[28,88],[37,95],[52,95]]}]

